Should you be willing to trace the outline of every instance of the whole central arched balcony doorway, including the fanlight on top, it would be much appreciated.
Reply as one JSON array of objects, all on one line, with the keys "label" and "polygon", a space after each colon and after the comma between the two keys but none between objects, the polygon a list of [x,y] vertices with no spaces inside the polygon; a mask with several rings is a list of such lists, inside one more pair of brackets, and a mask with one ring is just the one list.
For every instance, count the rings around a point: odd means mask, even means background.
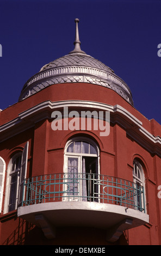
[{"label": "whole central arched balcony doorway, including the fanlight on top", "polygon": [[65,150],[65,191],[67,200],[98,202],[98,147],[86,138],[67,143]]}]

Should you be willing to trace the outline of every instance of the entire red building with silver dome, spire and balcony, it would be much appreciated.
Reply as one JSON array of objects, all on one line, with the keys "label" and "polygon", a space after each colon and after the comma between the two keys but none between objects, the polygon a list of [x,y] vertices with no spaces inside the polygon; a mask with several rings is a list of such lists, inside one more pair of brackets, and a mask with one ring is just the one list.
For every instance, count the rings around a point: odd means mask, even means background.
[{"label": "entire red building with silver dome, spire and balcony", "polygon": [[161,245],[161,126],[75,48],[0,112],[1,245]]}]

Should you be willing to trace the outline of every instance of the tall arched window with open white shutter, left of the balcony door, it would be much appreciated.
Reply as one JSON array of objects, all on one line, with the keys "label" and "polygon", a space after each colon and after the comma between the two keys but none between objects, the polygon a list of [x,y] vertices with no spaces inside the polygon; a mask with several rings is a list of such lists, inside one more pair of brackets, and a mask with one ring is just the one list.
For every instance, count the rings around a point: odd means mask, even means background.
[{"label": "tall arched window with open white shutter, left of the balcony door", "polygon": [[6,198],[4,212],[9,212],[21,206],[23,200],[23,181],[26,178],[28,142],[23,152],[15,154],[8,166]]}]

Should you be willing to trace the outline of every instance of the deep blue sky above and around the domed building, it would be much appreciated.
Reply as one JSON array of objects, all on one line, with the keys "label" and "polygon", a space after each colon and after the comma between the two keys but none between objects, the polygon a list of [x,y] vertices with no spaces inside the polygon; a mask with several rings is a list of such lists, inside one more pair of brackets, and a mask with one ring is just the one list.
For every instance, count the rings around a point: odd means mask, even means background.
[{"label": "deep blue sky above and around the domed building", "polygon": [[73,50],[75,18],[82,50],[110,66],[134,107],[161,124],[160,0],[0,0],[0,108],[16,103],[42,66]]}]

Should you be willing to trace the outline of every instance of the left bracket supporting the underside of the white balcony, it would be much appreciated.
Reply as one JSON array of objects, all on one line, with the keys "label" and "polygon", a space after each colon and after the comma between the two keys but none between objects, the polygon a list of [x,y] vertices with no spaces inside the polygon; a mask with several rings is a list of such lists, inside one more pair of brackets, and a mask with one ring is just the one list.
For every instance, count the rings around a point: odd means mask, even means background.
[{"label": "left bracket supporting the underside of the white balcony", "polygon": [[41,227],[47,239],[55,238],[55,227],[49,223],[43,214],[35,215],[35,220]]}]

